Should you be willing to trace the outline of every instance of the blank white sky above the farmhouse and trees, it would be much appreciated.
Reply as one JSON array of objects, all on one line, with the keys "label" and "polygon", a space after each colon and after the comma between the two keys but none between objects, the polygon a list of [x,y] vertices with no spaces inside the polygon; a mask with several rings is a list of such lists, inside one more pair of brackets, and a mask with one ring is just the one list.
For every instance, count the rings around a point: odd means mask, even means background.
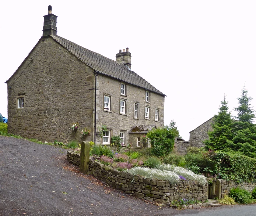
[{"label": "blank white sky above the farmhouse and trees", "polygon": [[168,96],[165,125],[175,120],[186,140],[217,114],[224,93],[232,114],[244,83],[255,98],[256,1],[9,0],[0,4],[0,113],[5,117],[4,82],[41,38],[48,5],[58,16],[57,35],[113,60],[129,47],[131,69]]}]

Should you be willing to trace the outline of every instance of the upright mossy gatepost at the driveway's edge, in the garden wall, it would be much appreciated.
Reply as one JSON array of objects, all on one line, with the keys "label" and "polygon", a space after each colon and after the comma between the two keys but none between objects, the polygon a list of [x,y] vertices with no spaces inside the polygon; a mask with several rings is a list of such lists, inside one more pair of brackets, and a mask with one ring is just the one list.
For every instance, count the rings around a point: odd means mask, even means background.
[{"label": "upright mossy gatepost at the driveway's edge, in the garden wall", "polygon": [[89,174],[90,143],[81,142],[80,172]]}]

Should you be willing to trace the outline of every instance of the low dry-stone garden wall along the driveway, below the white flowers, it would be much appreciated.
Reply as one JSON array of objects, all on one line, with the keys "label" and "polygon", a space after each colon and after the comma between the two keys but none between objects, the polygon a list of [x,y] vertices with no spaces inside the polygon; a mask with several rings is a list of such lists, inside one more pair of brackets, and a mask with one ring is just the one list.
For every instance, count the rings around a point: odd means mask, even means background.
[{"label": "low dry-stone garden wall along the driveway, below the white flowers", "polygon": [[[67,159],[73,164],[78,165],[78,157],[72,152],[67,153]],[[89,168],[89,174],[109,186],[149,201],[167,203],[180,198],[204,201],[208,195],[208,185],[201,186],[196,181],[179,181],[178,184],[172,185],[169,181],[150,180],[118,171],[92,160],[90,160]]]}]

